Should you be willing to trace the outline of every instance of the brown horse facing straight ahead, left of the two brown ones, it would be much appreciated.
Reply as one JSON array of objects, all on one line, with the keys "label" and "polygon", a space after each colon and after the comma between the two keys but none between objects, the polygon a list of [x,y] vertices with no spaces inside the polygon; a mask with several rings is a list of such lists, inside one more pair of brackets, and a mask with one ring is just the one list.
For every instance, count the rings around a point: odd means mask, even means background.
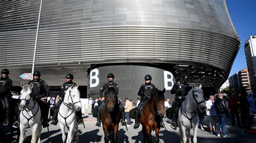
[{"label": "brown horse facing straight ahead, left of the two brown ones", "polygon": [[120,111],[117,95],[114,94],[114,88],[109,88],[106,93],[105,107],[102,112],[102,125],[105,134],[105,142],[117,142],[117,131],[120,123]]}]

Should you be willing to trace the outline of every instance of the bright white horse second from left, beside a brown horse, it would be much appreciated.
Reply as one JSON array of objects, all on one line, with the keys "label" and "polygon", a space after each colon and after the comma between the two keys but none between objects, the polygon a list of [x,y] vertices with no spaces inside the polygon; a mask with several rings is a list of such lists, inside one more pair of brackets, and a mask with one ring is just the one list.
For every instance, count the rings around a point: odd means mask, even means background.
[{"label": "bright white horse second from left, beside a brown horse", "polygon": [[79,142],[78,138],[78,123],[76,119],[76,111],[82,109],[80,101],[80,92],[78,86],[72,85],[65,94],[64,101],[60,105],[58,112],[58,121],[60,129],[62,130],[62,140],[65,142],[65,127],[68,128],[68,138],[66,142],[71,142],[74,134],[76,134],[76,142]]}]

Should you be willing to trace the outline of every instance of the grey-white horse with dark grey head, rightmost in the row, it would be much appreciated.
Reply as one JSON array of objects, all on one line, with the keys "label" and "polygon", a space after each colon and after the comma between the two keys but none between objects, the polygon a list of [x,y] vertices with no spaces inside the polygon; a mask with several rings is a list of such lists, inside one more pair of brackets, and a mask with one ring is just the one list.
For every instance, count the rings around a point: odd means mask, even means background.
[{"label": "grey-white horse with dark grey head, rightmost in the row", "polygon": [[198,129],[198,115],[197,115],[197,106],[198,109],[205,112],[206,105],[204,101],[204,93],[201,89],[201,85],[199,87],[194,87],[188,92],[185,101],[181,105],[179,109],[179,118],[178,118],[178,126],[180,132],[180,142],[191,142],[190,138],[190,130],[193,128],[194,137],[193,142],[197,142],[197,129]]}]

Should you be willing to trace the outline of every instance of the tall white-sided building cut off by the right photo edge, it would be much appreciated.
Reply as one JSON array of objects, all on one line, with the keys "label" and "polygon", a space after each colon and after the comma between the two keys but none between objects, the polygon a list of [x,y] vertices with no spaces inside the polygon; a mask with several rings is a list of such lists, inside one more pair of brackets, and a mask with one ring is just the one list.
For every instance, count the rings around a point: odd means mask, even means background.
[{"label": "tall white-sided building cut off by the right photo edge", "polygon": [[256,90],[256,35],[250,36],[244,47],[251,89]]}]

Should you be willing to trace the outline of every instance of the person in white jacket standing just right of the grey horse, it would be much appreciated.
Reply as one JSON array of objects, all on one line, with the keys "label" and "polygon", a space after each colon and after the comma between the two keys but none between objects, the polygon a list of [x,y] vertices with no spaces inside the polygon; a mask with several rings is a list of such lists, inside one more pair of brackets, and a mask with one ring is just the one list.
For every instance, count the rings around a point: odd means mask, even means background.
[{"label": "person in white jacket standing just right of the grey horse", "polygon": [[[215,130],[215,127],[217,125],[217,113],[214,106],[214,96],[210,95],[209,100],[206,101],[206,115],[210,117],[210,133],[213,133],[213,129]],[[216,131],[216,130],[215,130]]]}]

